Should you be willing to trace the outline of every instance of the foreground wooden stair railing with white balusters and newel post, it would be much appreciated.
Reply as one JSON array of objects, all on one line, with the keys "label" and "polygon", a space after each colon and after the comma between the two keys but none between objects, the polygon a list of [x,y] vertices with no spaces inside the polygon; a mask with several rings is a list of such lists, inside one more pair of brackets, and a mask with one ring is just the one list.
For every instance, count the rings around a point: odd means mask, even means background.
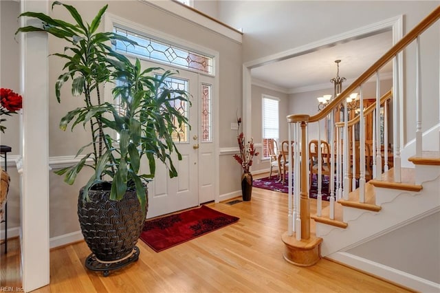
[{"label": "foreground wooden stair railing with white balusters and newel post", "polygon": [[[379,58],[369,69],[360,75],[351,85],[349,85],[346,89],[342,91],[337,97],[334,97],[331,102],[322,109],[322,111],[316,113],[315,115],[308,114],[293,114],[287,116],[287,123],[289,125],[289,140],[291,140],[291,133],[293,131],[294,141],[296,142],[295,151],[295,162],[302,162],[300,166],[295,166],[296,170],[300,170],[300,172],[294,172],[294,182],[292,183],[292,176],[289,176],[289,215],[287,224],[287,232],[283,234],[282,240],[285,243],[285,253],[284,257],[287,261],[295,263],[296,265],[313,265],[320,258],[320,244],[322,243],[322,239],[316,237],[313,233],[310,233],[310,209],[309,209],[309,184],[308,180],[308,153],[307,153],[307,124],[311,122],[318,122],[318,133],[319,131],[319,122],[320,120],[324,120],[329,117],[331,124],[334,124],[333,112],[336,107],[340,107],[340,105],[344,105],[344,113],[347,113],[347,97],[353,92],[360,89],[360,105],[361,111],[363,111],[363,100],[362,100],[362,85],[367,82],[372,76],[376,76],[376,113],[380,113],[380,105],[381,105],[381,96],[380,96],[380,78],[379,78],[379,70],[386,65],[386,63],[391,60],[394,61],[394,70],[399,72],[401,69],[401,65],[399,65],[399,54],[413,41],[416,40],[416,100],[417,100],[417,117],[416,117],[416,156],[421,156],[421,109],[419,105],[421,105],[421,90],[420,90],[420,52],[419,52],[419,36],[431,25],[436,23],[440,19],[440,6],[433,10],[428,16],[423,19],[418,25],[415,26],[406,36],[404,36],[400,41],[398,41],[393,47],[391,47],[388,52],[386,52],[381,58]],[[398,83],[398,80],[397,80]],[[399,113],[399,102],[400,102],[400,93],[399,93],[399,85],[395,87],[393,96],[395,107],[393,107],[393,117],[395,121],[395,128],[400,129],[400,113]],[[360,115],[360,124],[362,129],[364,127],[364,116]],[[354,122],[353,122],[354,123]],[[332,127],[333,129],[333,127]],[[348,139],[347,139],[347,129],[348,129],[348,121],[344,122],[344,133],[342,136],[342,140],[344,141],[344,162],[343,165],[348,165]],[[376,115],[375,117],[375,129],[373,130],[376,135],[376,138],[380,138],[380,116]],[[393,180],[397,183],[401,182],[401,162],[400,162],[400,133],[399,131],[394,131],[395,135],[394,140],[394,177]],[[331,130],[330,141],[333,142],[335,138],[335,133]],[[345,138],[345,139],[344,139]],[[364,141],[363,131],[360,131],[360,140],[361,144]],[[318,140],[320,140],[318,134]],[[337,138],[338,140],[338,138]],[[331,173],[334,174],[334,153],[331,153]],[[339,148],[341,149],[341,148]],[[381,144],[380,140],[376,139],[375,141],[375,179],[377,180],[382,175],[382,155],[381,155]],[[319,151],[319,150],[318,150]],[[289,154],[290,155],[290,154]],[[364,158],[364,154],[361,153],[360,158]],[[362,164],[362,161],[360,162]],[[343,186],[349,186],[347,171],[344,174],[344,182],[342,182]],[[319,175],[318,175],[319,176]],[[333,184],[333,180],[330,180],[330,184]],[[295,192],[292,193],[292,186],[295,186]],[[300,191],[298,186],[300,186]],[[338,187],[338,186],[337,186]],[[343,197],[344,199],[348,199],[349,191],[348,188],[343,188]],[[318,197],[319,199],[319,197]],[[330,210],[334,210],[336,198],[335,194],[331,193],[330,196],[330,206],[332,207]],[[332,217],[332,215],[330,215]]]}]

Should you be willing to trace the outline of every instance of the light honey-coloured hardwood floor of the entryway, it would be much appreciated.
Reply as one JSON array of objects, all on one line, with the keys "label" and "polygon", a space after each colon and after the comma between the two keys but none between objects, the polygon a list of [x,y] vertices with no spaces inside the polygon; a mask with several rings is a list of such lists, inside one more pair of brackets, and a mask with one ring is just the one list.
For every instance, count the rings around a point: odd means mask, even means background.
[{"label": "light honey-coloured hardwood floor of the entryway", "polygon": [[[56,248],[50,285],[34,292],[408,292],[327,259],[310,268],[287,263],[285,193],[254,188],[251,202],[208,206],[240,220],[159,253],[139,241],[140,259],[107,277],[85,268],[85,242]],[[0,286],[21,287],[19,239],[8,244]]]}]

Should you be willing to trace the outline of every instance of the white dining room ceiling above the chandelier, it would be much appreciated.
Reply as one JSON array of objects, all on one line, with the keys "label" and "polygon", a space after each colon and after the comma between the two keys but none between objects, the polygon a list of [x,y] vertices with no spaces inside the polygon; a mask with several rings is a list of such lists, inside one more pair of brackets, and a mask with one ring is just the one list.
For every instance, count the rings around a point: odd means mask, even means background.
[{"label": "white dining room ceiling above the chandelier", "polygon": [[[285,61],[278,61],[251,70],[254,84],[281,88],[289,94],[314,89],[332,88],[331,78],[336,77],[339,63],[339,76],[347,78],[342,88],[358,78],[377,59],[393,45],[391,30],[368,36],[363,39],[347,41],[326,47],[309,54],[303,54]],[[392,63],[385,65],[380,75],[391,76]]]}]

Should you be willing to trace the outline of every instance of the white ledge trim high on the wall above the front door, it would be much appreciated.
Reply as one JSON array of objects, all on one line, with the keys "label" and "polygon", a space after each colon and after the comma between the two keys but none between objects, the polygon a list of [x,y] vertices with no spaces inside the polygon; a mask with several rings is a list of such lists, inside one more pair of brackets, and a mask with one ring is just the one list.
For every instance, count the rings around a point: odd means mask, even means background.
[{"label": "white ledge trim high on the wall above the front door", "polygon": [[146,1],[139,0],[140,2],[151,6],[153,8],[157,8],[166,12],[168,14],[173,15],[173,17],[177,17],[183,21],[188,23],[192,23],[193,25],[197,25],[201,28],[207,28],[208,30],[215,32],[221,36],[225,36],[236,43],[242,43],[242,34],[231,30],[230,28],[225,27],[225,25],[221,25],[215,21],[208,19],[208,17],[203,17],[203,15],[192,11],[184,6],[179,5],[178,3],[174,3],[173,1]]}]

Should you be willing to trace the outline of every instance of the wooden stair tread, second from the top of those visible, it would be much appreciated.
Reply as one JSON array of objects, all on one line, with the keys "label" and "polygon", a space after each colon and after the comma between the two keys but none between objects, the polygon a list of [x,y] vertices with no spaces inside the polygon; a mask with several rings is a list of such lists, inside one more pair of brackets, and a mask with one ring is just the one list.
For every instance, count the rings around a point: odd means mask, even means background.
[{"label": "wooden stair tread, second from the top of those visible", "polygon": [[382,188],[394,188],[406,191],[421,191],[422,186],[415,184],[415,169],[401,168],[401,182],[394,180],[394,168],[382,174],[380,180],[370,180],[369,183]]}]

